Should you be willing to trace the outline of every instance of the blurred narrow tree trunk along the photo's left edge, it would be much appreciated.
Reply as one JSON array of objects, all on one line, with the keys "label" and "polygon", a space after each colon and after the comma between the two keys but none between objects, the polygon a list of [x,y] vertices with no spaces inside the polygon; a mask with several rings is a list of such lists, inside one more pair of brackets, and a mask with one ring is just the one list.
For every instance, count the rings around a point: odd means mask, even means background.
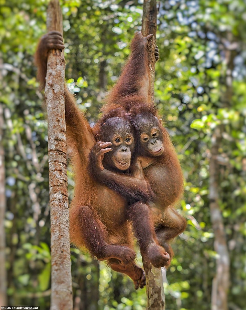
[{"label": "blurred narrow tree trunk along the photo's left edge", "polygon": [[5,169],[3,147],[3,108],[0,104],[0,305],[6,306],[6,269],[5,269]]}]

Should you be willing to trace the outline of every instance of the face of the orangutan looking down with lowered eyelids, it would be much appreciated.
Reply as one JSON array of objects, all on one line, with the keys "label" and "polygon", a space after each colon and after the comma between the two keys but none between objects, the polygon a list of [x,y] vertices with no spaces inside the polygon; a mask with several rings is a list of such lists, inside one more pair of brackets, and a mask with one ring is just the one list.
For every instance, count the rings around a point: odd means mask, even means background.
[{"label": "face of the orangutan looking down with lowered eyelids", "polygon": [[164,151],[160,121],[151,115],[137,115],[136,122],[140,132],[139,144],[142,155],[157,157]]}]

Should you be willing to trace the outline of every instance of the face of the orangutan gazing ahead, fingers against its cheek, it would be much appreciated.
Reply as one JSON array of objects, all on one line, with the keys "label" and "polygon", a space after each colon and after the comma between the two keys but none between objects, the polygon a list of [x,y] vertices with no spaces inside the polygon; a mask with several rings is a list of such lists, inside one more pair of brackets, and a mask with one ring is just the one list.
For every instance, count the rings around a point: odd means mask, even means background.
[{"label": "face of the orangutan gazing ahead, fingers against its cheek", "polygon": [[121,171],[129,169],[134,151],[132,125],[125,119],[112,117],[106,121],[103,132],[101,139],[112,143],[102,161],[104,168]]}]

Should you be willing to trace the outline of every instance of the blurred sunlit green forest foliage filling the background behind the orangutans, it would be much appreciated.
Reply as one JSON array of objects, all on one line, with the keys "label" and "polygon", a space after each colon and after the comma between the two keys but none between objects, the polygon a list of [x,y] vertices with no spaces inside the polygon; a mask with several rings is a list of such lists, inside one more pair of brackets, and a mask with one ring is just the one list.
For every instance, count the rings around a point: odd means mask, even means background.
[{"label": "blurred sunlit green forest foliage filling the background behind the orangutans", "polygon": [[[0,0],[0,100],[4,106],[9,305],[49,309],[50,237],[47,122],[33,54],[45,33],[48,1]],[[142,1],[61,1],[66,79],[93,125],[141,29]],[[159,10],[155,100],[184,171],[179,211],[188,228],[173,245],[167,309],[207,310],[217,253],[210,222],[211,138],[222,126],[220,207],[231,258],[231,309],[246,309],[246,68],[243,0],[163,1]],[[230,42],[231,44],[230,46]],[[226,52],[232,60],[226,63]],[[232,94],[227,102],[228,66]],[[229,97],[229,96],[228,96]],[[68,170],[72,197],[72,172]],[[145,309],[145,290],[71,249],[74,298],[81,308]]]}]

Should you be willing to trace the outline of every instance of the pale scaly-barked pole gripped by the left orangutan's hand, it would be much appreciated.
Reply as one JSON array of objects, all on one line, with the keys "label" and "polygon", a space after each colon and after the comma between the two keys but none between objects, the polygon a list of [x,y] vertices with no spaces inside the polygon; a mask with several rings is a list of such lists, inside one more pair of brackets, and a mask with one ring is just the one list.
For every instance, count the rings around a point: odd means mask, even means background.
[{"label": "pale scaly-barked pole gripped by the left orangutan's hand", "polygon": [[[47,10],[47,30],[63,33],[58,0]],[[69,208],[67,189],[65,59],[60,50],[49,51],[45,83],[48,117],[49,201],[51,226],[51,310],[72,310]]]}]

